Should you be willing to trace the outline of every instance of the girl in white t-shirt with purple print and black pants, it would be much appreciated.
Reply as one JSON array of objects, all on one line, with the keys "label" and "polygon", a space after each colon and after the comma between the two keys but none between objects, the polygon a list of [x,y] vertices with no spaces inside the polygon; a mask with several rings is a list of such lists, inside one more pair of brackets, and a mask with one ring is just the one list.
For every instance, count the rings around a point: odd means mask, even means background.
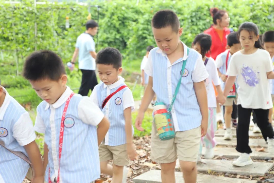
[{"label": "girl in white t-shirt with purple print and black pants", "polygon": [[268,151],[274,153],[274,132],[268,120],[272,99],[268,79],[274,78],[273,64],[269,53],[263,50],[258,39],[259,29],[252,22],[243,23],[238,30],[239,41],[244,48],[232,55],[227,75],[224,95],[238,76],[238,126],[236,150],[241,153],[232,164],[245,166],[253,163],[249,154],[249,123],[252,110],[258,119],[258,127],[268,140]]}]

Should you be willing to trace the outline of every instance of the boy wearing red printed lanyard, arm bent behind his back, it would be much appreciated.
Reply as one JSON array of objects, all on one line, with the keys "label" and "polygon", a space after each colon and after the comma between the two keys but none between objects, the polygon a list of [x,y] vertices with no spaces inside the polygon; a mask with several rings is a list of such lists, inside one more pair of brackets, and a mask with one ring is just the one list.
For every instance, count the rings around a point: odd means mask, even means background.
[{"label": "boy wearing red printed lanyard, arm bent behind his back", "polygon": [[[61,58],[52,51],[32,53],[24,77],[42,98],[35,131],[45,134],[44,168],[48,183],[91,183],[100,177],[98,145],[109,129],[101,110],[66,85]],[[97,128],[96,128],[97,127]]]}]

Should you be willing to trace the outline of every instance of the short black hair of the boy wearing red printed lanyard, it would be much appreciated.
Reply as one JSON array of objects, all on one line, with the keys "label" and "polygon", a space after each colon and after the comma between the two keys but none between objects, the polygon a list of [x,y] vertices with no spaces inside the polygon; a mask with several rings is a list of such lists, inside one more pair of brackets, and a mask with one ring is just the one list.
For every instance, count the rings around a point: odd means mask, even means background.
[{"label": "short black hair of the boy wearing red printed lanyard", "polygon": [[58,81],[63,74],[66,72],[62,59],[50,50],[33,52],[24,63],[23,76],[27,80],[50,79]]}]

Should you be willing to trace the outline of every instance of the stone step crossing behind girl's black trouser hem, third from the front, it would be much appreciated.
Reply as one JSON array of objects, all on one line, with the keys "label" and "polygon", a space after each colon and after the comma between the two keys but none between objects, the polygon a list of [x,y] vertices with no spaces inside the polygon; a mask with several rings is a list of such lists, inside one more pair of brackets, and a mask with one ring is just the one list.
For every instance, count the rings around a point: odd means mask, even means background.
[{"label": "stone step crossing behind girl's black trouser hem, third from the front", "polygon": [[[255,148],[251,148],[252,153],[250,154],[252,159],[256,160],[264,160],[264,159],[273,159],[274,154],[269,153],[267,149],[265,149],[263,152],[256,151]],[[203,147],[202,154],[204,155],[206,152],[206,148]],[[227,158],[238,158],[239,152],[236,151],[235,147],[215,147],[214,148],[215,156],[219,157],[227,157]]]}]

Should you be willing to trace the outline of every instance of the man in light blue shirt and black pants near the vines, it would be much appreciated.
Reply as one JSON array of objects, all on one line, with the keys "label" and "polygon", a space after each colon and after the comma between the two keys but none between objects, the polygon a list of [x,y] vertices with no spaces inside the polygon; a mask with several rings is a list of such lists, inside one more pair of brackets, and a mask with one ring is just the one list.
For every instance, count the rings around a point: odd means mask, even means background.
[{"label": "man in light blue shirt and black pants near the vines", "polygon": [[75,46],[75,51],[72,56],[71,63],[75,64],[75,60],[79,55],[79,69],[82,72],[82,81],[79,89],[79,94],[85,96],[89,90],[93,90],[94,86],[98,85],[96,78],[95,67],[95,42],[93,36],[98,31],[98,23],[94,20],[89,20],[86,23],[86,31],[78,36]]}]

